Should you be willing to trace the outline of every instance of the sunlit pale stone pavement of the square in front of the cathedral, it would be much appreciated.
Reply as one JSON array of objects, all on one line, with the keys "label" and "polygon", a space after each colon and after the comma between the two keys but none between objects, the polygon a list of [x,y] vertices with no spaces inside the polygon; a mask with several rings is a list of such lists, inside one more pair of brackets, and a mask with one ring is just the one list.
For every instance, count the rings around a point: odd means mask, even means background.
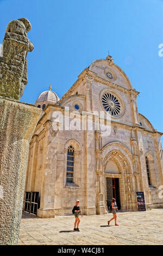
[{"label": "sunlit pale stone pavement of the square in front of the cathedral", "polygon": [[80,232],[72,231],[74,216],[22,218],[18,245],[163,245],[163,209],[80,217]]}]

